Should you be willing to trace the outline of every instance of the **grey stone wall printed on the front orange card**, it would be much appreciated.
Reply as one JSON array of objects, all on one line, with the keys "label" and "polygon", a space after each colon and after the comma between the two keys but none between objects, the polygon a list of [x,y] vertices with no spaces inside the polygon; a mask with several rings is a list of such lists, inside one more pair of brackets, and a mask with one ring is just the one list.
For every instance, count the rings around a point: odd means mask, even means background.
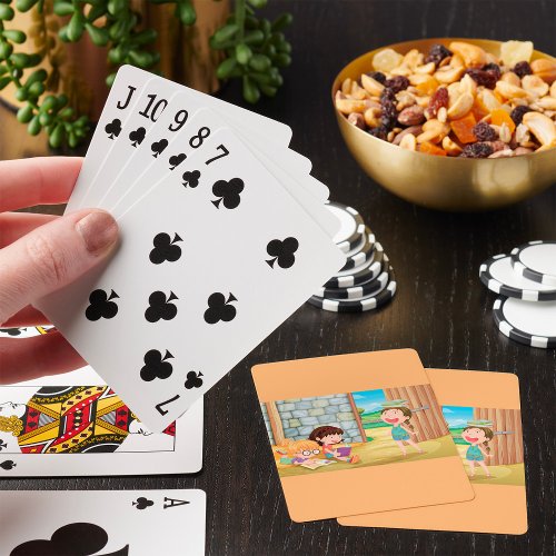
[{"label": "grey stone wall printed on the front orange card", "polygon": [[309,398],[289,398],[261,404],[265,425],[274,445],[285,438],[301,440],[324,425],[331,425],[344,430],[344,441],[361,443],[359,416],[350,394],[334,394]]}]

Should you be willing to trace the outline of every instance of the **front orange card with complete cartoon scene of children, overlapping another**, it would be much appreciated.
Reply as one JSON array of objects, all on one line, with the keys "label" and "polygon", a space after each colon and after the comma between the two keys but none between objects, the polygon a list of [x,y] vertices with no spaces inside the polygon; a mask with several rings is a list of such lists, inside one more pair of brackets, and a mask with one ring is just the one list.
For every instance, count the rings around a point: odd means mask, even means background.
[{"label": "front orange card with complete cartoon scene of children, overlapping another", "polygon": [[[252,376],[295,522],[473,498],[416,351],[258,365]],[[337,495],[316,496],[324,481]]]}]

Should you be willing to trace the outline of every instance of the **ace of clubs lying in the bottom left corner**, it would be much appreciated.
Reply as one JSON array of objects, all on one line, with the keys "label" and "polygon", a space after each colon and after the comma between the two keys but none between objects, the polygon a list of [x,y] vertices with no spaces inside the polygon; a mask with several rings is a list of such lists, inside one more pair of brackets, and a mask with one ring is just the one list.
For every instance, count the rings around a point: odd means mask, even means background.
[{"label": "ace of clubs lying in the bottom left corner", "polygon": [[201,556],[198,489],[1,490],[6,556]]}]

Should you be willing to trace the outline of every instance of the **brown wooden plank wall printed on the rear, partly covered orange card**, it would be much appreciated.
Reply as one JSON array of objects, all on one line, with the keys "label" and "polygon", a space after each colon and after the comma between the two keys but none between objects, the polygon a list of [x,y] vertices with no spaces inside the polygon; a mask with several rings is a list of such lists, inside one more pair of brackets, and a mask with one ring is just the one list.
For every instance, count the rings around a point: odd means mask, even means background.
[{"label": "brown wooden plank wall printed on the rear, partly covered orange card", "polygon": [[474,419],[493,421],[494,435],[489,443],[493,457],[487,459],[488,465],[513,465],[524,461],[522,437],[522,411],[519,409],[489,409],[476,407],[473,410]]}]

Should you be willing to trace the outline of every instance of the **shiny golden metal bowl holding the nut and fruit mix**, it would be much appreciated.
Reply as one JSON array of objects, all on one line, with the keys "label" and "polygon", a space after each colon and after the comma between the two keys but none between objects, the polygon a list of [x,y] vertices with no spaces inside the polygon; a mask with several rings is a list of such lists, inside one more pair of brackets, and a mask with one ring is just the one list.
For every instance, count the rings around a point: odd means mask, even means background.
[{"label": "shiny golden metal bowl holding the nut and fruit mix", "polygon": [[[477,44],[499,54],[500,42],[478,39],[421,39],[398,42],[367,52],[349,62],[332,85],[359,79],[371,69],[373,57],[384,48],[405,54],[413,48],[427,52],[434,43],[453,40]],[[553,57],[535,50],[532,60]],[[351,155],[365,172],[393,193],[423,207],[439,210],[487,210],[512,205],[539,193],[556,181],[556,149],[513,158],[470,159],[437,157],[410,151],[370,136],[348,122],[336,107],[336,118]]]}]

